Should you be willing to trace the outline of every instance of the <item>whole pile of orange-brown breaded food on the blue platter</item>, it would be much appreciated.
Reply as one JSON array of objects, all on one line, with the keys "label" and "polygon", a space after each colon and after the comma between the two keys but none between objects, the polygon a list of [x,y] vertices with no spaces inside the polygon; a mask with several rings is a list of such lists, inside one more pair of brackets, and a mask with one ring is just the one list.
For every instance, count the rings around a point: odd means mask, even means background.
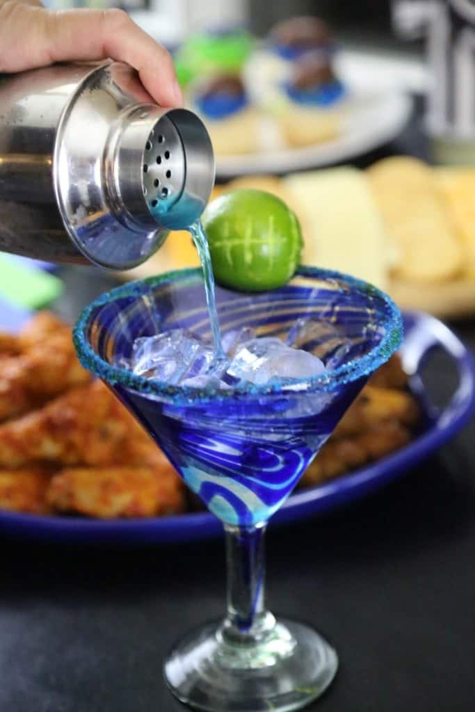
[{"label": "whole pile of orange-brown breaded food on the blue platter", "polygon": [[[53,314],[38,313],[16,336],[1,334],[0,365],[0,509],[110,519],[196,506],[150,436],[80,367],[71,329]],[[395,357],[372,377],[301,486],[377,461],[409,443],[418,422]]]}]

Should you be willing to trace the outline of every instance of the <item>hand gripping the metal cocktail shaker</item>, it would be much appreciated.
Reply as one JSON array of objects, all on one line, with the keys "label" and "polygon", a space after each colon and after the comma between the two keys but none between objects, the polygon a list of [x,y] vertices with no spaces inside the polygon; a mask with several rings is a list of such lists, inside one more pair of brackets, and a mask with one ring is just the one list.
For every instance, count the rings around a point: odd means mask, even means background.
[{"label": "hand gripping the metal cocktail shaker", "polygon": [[124,11],[53,12],[38,0],[0,0],[0,73],[108,57],[135,67],[160,105],[182,106],[169,53]]}]

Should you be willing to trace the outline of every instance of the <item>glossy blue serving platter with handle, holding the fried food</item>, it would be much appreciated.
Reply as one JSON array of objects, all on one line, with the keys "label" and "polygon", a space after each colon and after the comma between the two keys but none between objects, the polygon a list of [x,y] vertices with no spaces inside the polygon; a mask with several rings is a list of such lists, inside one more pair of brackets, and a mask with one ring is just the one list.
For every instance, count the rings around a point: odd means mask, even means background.
[{"label": "glossy blue serving platter with handle, holding the fried food", "polygon": [[[458,376],[456,389],[442,408],[432,405],[422,379],[422,369],[435,349],[446,353]],[[297,491],[273,516],[274,525],[318,516],[385,486],[414,468],[469,422],[475,413],[475,359],[447,326],[427,314],[404,313],[401,355],[410,386],[424,409],[422,431],[409,445],[375,464],[321,486]],[[179,543],[210,538],[221,531],[219,521],[207,512],[131,520],[0,512],[0,535],[52,543]]]}]

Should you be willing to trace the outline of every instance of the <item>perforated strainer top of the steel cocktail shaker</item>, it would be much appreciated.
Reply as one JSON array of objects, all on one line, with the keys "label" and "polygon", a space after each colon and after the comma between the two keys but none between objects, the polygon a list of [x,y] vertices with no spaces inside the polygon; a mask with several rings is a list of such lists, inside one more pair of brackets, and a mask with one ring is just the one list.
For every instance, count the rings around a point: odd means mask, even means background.
[{"label": "perforated strainer top of the steel cocktail shaker", "polygon": [[53,182],[80,251],[128,269],[202,214],[214,184],[211,140],[193,112],[157,106],[133,68],[103,63],[63,110]]}]

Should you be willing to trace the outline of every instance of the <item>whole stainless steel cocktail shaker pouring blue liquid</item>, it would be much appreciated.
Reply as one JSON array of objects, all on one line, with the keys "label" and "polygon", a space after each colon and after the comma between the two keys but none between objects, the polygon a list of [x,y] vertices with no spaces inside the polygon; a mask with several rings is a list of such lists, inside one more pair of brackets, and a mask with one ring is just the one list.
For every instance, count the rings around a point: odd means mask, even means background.
[{"label": "whole stainless steel cocktail shaker pouring blue liquid", "polygon": [[0,75],[0,250],[127,269],[196,220],[214,184],[201,120],[119,62]]}]

